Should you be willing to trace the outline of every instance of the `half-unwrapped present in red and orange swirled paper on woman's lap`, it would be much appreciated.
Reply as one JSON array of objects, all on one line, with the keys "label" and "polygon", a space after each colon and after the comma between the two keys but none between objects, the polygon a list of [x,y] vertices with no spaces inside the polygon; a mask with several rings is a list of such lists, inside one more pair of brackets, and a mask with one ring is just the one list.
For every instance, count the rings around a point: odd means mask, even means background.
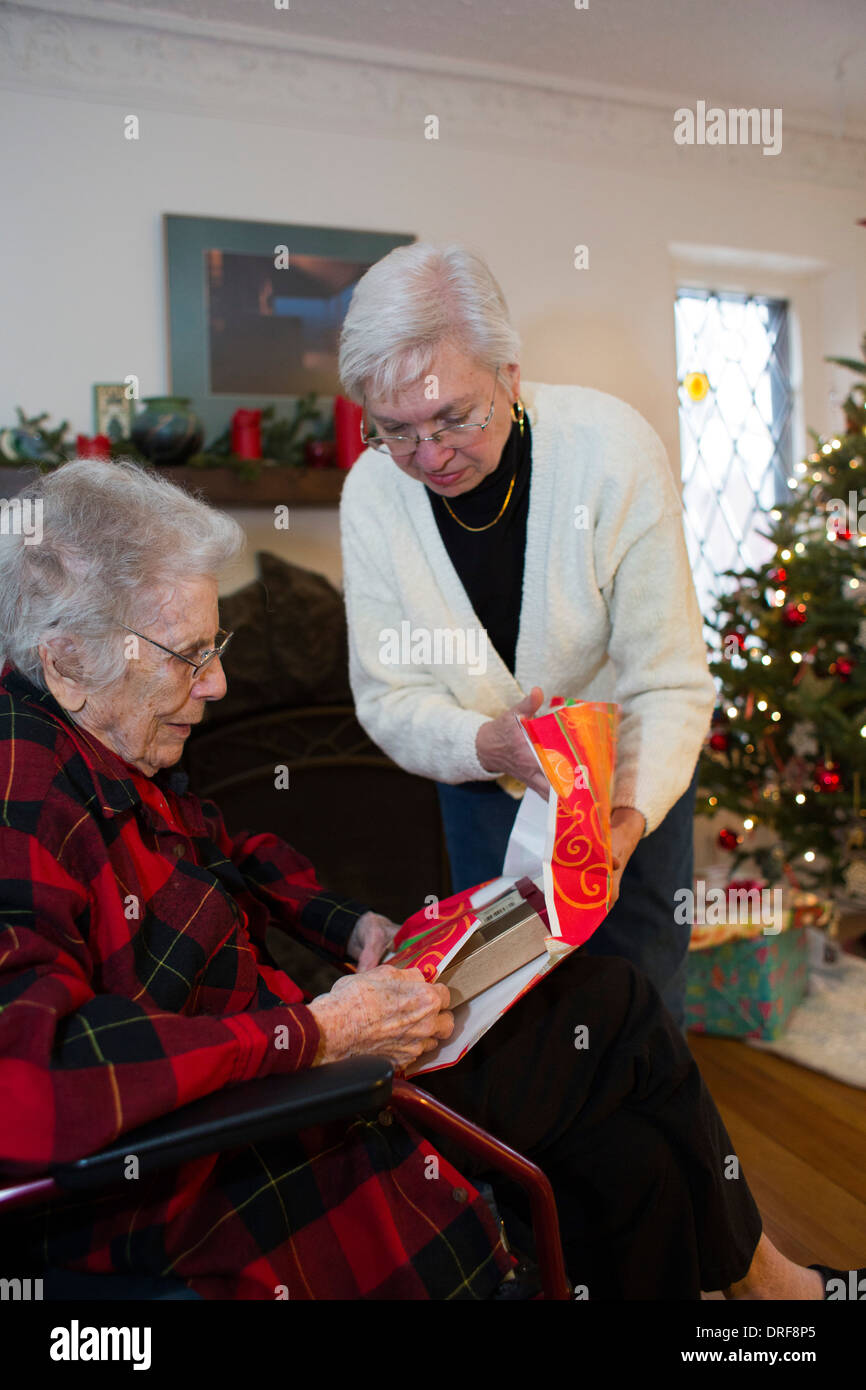
[{"label": "half-unwrapped present in red and orange swirled paper on woman's lap", "polygon": [[550,792],[527,788],[502,877],[413,913],[385,958],[452,992],[455,1031],[407,1074],[459,1062],[607,915],[619,706],[556,703],[521,720]]}]

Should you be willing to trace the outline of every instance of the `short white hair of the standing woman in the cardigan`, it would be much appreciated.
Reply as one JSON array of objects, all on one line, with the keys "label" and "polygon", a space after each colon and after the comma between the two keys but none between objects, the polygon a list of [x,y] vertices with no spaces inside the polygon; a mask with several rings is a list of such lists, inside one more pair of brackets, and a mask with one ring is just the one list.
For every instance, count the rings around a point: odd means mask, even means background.
[{"label": "short white hair of the standing woman in the cardigan", "polygon": [[445,342],[489,371],[520,354],[505,295],[482,256],[459,245],[398,246],[354,286],[339,345],[346,396],[396,395],[430,371]]}]

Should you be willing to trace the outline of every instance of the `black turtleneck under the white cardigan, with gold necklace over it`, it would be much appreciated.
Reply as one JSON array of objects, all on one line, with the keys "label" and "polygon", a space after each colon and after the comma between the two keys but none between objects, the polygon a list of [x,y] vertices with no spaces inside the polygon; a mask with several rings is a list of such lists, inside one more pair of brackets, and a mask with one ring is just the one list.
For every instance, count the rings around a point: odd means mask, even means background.
[{"label": "black turtleneck under the white cardigan, with gold necklace over it", "polygon": [[481,626],[487,628],[489,642],[512,674],[523,596],[531,449],[530,420],[524,416],[523,436],[514,421],[496,468],[471,492],[448,499],[450,509],[466,525],[487,525],[499,513],[512,478],[517,474],[505,513],[487,531],[464,531],[449,514],[445,499],[427,489],[439,535],[457,577]]}]

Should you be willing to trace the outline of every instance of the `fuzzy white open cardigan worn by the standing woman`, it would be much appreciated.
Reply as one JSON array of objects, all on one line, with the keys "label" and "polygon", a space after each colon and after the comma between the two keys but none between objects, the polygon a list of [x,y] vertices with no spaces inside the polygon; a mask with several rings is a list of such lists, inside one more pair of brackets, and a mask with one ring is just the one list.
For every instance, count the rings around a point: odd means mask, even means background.
[{"label": "fuzzy white open cardigan worn by the standing woman", "polygon": [[[341,503],[357,717],[407,771],[460,783],[496,778],[478,762],[475,734],[532,685],[542,712],[555,695],[617,701],[613,805],[642,812],[649,834],[688,787],[714,705],[680,498],[662,441],[626,402],[530,382],[521,398],[532,473],[514,676],[489,642],[484,673],[477,662],[418,662],[424,632],[487,635],[428,489],[367,449]],[[409,637],[416,659],[396,662]]]}]

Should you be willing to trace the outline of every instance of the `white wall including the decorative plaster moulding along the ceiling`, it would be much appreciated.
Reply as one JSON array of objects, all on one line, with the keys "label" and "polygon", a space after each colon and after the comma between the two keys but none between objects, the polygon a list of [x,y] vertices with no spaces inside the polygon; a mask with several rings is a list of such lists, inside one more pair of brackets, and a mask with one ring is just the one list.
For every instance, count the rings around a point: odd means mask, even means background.
[{"label": "white wall including the decorative plaster moulding along the ceiling", "polygon": [[[544,85],[325,58],[286,57],[284,72],[279,54],[206,39],[26,25],[0,57],[0,424],[21,404],[90,432],[93,382],[170,388],[161,214],[183,213],[473,242],[512,306],[524,377],[624,398],[674,473],[677,284],[787,296],[799,438],[840,425],[831,396],[849,377],[822,359],[856,354],[866,328],[862,145],[794,131],[778,158],[676,153],[664,113]],[[129,111],[139,142],[122,139]],[[334,509],[296,509],[288,532],[267,510],[238,516],[250,546],[232,587],[256,549],[339,582]],[[699,863],[717,858],[717,824],[698,821]]]}]

